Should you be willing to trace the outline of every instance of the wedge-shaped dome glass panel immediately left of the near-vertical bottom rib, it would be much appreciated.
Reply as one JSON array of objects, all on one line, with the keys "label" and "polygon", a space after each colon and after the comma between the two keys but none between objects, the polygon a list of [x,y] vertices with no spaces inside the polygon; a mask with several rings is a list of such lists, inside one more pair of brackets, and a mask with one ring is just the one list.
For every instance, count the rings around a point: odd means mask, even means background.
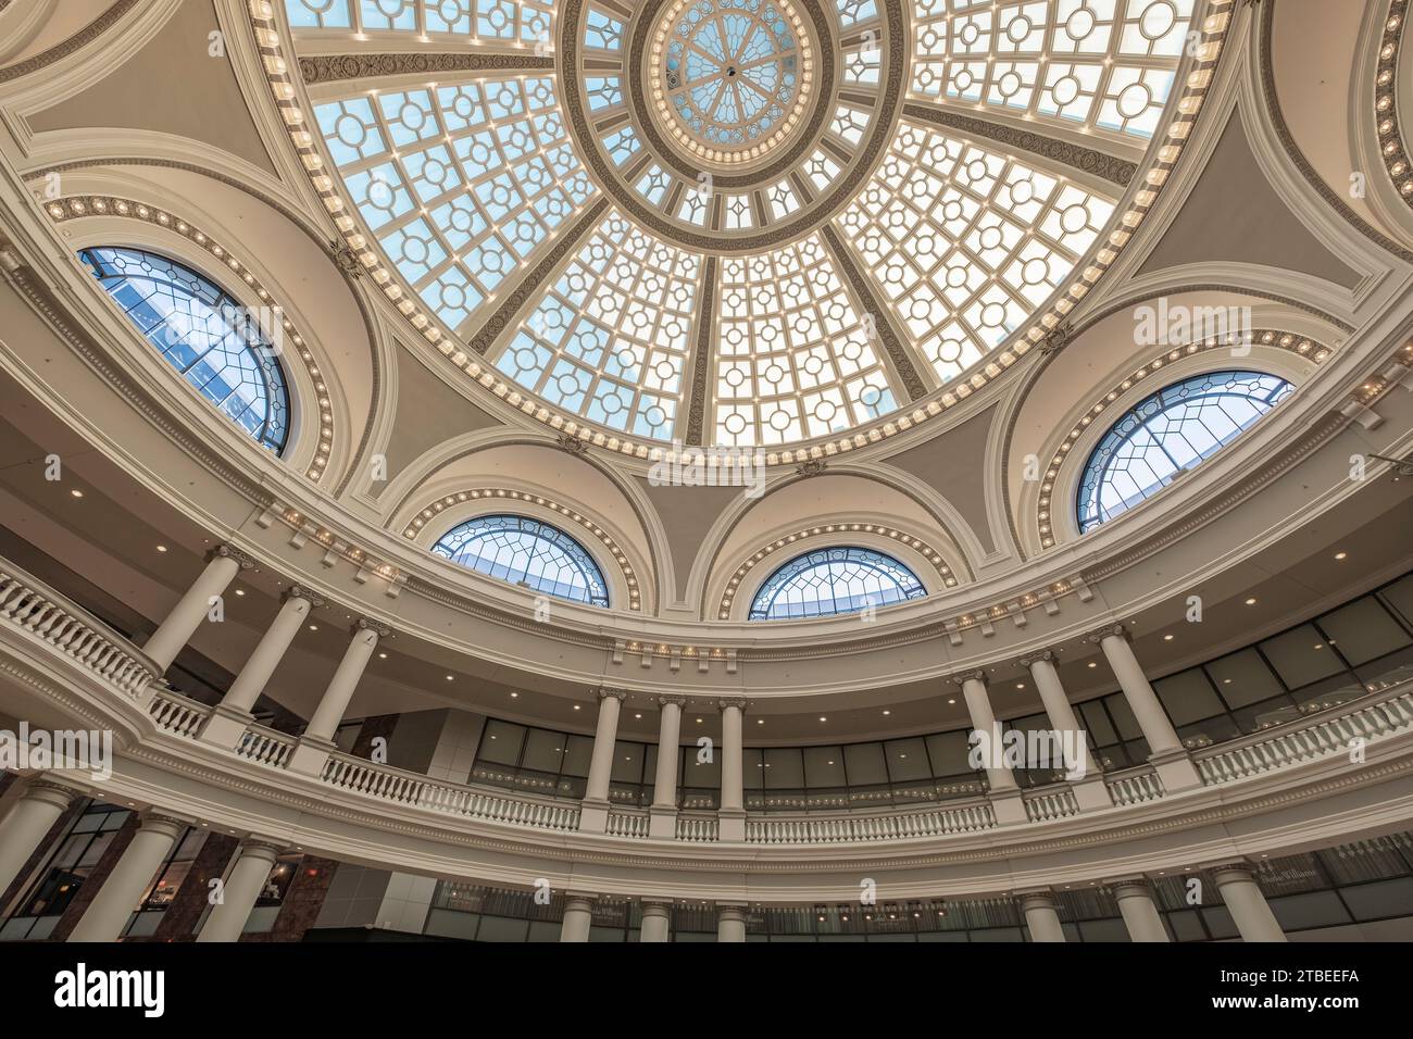
[{"label": "wedge-shaped dome glass panel immediately left of the near-vertical bottom rib", "polygon": [[610,211],[540,297],[496,366],[552,404],[670,440],[702,259]]}]

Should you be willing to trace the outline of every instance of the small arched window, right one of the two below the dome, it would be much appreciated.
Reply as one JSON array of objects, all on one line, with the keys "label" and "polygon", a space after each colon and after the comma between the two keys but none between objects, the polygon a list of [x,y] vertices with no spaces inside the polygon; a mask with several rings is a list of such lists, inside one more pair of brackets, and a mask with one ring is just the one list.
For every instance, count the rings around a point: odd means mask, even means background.
[{"label": "small arched window, right one of the two below the dome", "polygon": [[820,548],[786,563],[760,585],[752,621],[853,614],[927,595],[917,575],[872,548]]}]

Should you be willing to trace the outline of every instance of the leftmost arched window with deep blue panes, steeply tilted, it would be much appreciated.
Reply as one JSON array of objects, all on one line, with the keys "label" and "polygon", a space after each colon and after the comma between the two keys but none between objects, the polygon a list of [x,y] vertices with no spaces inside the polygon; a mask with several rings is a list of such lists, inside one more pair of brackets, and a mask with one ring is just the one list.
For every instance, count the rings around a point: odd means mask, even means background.
[{"label": "leftmost arched window with deep blue panes, steeply tilted", "polygon": [[290,387],[260,321],[191,267],[141,249],[85,249],[113,301],[182,377],[276,454],[290,434]]}]

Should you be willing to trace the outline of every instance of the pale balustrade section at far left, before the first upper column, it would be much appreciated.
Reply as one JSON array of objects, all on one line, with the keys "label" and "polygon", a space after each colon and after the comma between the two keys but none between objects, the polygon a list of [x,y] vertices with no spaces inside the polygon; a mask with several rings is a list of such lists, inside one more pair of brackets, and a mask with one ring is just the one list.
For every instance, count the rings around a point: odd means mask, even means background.
[{"label": "pale balustrade section at far left, before the first upper column", "polygon": [[157,677],[127,639],[10,563],[0,568],[0,622],[42,639],[134,700]]}]

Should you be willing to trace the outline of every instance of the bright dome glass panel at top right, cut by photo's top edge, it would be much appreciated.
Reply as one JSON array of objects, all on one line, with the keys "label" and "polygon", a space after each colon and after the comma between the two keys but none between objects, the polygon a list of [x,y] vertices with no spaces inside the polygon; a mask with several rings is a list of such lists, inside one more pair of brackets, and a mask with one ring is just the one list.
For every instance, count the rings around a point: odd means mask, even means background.
[{"label": "bright dome glass panel at top right, cut by photo's top edge", "polygon": [[914,0],[911,90],[1149,139],[1195,0]]}]

